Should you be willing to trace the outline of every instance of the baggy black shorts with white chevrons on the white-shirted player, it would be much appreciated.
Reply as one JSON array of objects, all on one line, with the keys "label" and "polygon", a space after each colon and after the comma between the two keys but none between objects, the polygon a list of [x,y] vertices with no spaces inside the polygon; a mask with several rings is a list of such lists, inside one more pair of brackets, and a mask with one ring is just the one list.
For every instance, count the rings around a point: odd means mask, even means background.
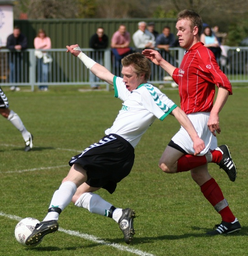
[{"label": "baggy black shorts with white chevrons on the white-shirted player", "polygon": [[119,135],[109,134],[72,157],[69,165],[75,163],[87,172],[86,183],[90,187],[102,187],[112,194],[117,183],[132,170],[134,148]]}]

